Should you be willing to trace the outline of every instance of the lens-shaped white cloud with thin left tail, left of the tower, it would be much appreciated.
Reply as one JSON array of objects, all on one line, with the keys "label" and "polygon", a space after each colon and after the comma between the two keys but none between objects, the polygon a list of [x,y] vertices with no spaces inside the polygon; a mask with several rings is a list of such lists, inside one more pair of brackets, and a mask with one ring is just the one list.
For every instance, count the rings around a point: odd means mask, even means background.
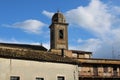
[{"label": "lens-shaped white cloud with thin left tail, left of the tower", "polygon": [[16,22],[16,23],[11,24],[11,25],[3,25],[3,26],[12,27],[12,28],[19,28],[19,29],[24,30],[27,33],[38,34],[42,31],[41,29],[45,25],[46,24],[44,24],[41,21],[29,19],[29,20],[25,20],[23,22]]}]

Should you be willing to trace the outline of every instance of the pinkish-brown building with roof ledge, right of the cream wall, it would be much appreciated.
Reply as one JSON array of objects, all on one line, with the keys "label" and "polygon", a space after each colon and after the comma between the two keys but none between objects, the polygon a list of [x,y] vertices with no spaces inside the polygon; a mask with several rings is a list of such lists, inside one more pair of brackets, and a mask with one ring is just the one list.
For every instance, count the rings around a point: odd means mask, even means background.
[{"label": "pinkish-brown building with roof ledge, right of the cream wall", "polygon": [[78,59],[79,80],[119,80],[120,60],[112,59]]}]

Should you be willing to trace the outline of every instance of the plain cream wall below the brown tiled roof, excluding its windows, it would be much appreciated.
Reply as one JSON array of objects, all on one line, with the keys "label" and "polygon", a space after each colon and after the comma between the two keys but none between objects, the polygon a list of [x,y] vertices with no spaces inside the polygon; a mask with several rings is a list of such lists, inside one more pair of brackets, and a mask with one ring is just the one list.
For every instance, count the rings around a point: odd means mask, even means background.
[{"label": "plain cream wall below the brown tiled roof, excluding its windows", "polygon": [[0,80],[10,80],[10,76],[20,76],[20,80],[57,80],[64,76],[65,80],[78,80],[78,67],[72,64],[38,62],[0,58]]}]

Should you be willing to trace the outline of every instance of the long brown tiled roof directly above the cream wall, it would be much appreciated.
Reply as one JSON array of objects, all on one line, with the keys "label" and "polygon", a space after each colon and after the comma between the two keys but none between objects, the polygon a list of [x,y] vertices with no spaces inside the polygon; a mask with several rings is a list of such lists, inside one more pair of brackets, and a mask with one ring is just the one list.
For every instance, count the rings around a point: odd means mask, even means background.
[{"label": "long brown tiled roof directly above the cream wall", "polygon": [[0,47],[0,57],[11,59],[35,60],[68,64],[80,64],[77,60],[62,57],[47,51],[35,51],[27,49],[10,49]]}]

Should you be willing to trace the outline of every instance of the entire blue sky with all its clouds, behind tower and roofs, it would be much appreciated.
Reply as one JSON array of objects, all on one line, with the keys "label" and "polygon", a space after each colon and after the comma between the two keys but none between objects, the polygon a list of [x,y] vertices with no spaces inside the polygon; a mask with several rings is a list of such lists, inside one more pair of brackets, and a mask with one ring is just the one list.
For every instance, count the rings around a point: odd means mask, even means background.
[{"label": "entire blue sky with all its clouds, behind tower and roofs", "polygon": [[69,23],[69,49],[120,58],[120,0],[0,0],[0,42],[42,43],[49,49],[57,10]]}]

